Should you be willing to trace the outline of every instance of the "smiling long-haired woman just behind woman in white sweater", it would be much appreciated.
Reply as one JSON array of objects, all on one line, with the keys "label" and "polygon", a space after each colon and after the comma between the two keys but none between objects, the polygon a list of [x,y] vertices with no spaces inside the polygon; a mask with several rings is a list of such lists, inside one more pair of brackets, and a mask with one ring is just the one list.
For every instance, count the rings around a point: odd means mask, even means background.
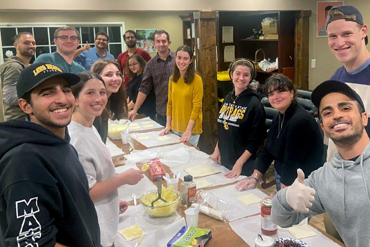
[{"label": "smiling long-haired woman just behind woman in white sweater", "polygon": [[99,59],[91,67],[91,72],[99,74],[107,88],[108,103],[103,113],[96,117],[94,126],[106,143],[108,138],[108,120],[119,120],[127,117],[126,93],[122,86],[122,75],[119,65],[111,59]]}]

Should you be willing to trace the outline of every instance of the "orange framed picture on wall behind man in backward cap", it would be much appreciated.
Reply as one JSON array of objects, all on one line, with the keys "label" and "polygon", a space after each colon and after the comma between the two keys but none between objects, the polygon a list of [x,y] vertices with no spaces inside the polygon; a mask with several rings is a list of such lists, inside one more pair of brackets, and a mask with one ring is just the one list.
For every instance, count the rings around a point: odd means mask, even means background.
[{"label": "orange framed picture on wall behind man in backward cap", "polygon": [[318,1],[317,2],[317,20],[316,20],[316,37],[327,37],[325,23],[329,10],[337,5],[343,5],[344,1]]}]

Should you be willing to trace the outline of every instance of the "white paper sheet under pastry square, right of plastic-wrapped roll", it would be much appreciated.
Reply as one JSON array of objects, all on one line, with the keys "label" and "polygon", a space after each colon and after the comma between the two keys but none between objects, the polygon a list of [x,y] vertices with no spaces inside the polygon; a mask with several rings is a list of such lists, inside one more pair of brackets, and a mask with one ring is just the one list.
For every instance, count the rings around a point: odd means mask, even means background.
[{"label": "white paper sheet under pastry square, right of plastic-wrapped roll", "polygon": [[263,198],[268,197],[265,193],[258,189],[239,192],[235,191],[234,188],[235,185],[230,185],[210,190],[210,192],[212,192],[216,198],[219,198],[232,205],[233,210],[231,211],[228,217],[229,221],[234,221],[247,216],[252,216],[255,214],[259,214],[261,212],[260,203],[254,203],[252,205],[247,206],[236,198],[247,194],[254,194],[254,196],[261,198],[262,200]]}]

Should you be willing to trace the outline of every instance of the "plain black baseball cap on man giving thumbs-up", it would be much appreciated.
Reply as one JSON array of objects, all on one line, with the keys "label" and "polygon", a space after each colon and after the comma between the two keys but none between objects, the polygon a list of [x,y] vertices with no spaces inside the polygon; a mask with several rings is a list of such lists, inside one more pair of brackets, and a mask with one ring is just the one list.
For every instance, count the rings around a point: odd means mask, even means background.
[{"label": "plain black baseball cap on man giving thumbs-up", "polygon": [[350,99],[354,99],[360,103],[363,109],[365,109],[364,102],[360,96],[351,89],[346,83],[338,80],[327,80],[317,86],[311,94],[312,103],[319,109],[321,99],[330,93],[343,93]]}]

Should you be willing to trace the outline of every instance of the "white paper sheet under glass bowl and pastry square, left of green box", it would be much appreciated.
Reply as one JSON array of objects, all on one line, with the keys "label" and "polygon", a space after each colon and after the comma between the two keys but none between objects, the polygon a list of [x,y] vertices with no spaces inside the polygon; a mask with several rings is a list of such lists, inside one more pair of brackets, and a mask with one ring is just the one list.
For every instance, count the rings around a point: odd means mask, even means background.
[{"label": "white paper sheet under glass bowl and pastry square, left of green box", "polygon": [[[185,219],[180,216],[174,216],[174,221],[166,223],[166,218],[151,219],[146,221],[144,219],[144,209],[141,205],[129,206],[127,211],[120,216],[120,223],[118,230],[127,228],[135,223],[138,223],[143,231],[148,233],[144,236],[140,247],[165,247],[167,243],[175,236],[175,234],[185,225]],[[152,222],[156,222],[153,224]],[[117,233],[115,246],[116,247],[134,247],[136,240],[126,242],[125,239]]]}]

